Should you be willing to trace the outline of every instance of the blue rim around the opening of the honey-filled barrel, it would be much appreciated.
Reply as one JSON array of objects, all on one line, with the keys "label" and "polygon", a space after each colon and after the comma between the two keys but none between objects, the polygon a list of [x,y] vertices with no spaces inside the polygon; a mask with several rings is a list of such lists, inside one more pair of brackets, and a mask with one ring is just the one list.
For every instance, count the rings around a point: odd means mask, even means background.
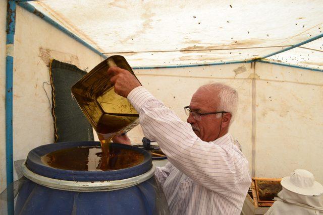
[{"label": "blue rim around the opening of the honey-filled barrel", "polygon": [[106,180],[122,180],[132,178],[149,171],[152,167],[151,155],[145,150],[138,149],[124,144],[112,144],[112,146],[121,149],[131,149],[144,155],[144,161],[134,167],[112,171],[76,171],[63,170],[47,166],[41,161],[41,156],[50,152],[69,149],[73,147],[91,147],[100,146],[98,141],[80,141],[80,142],[59,142],[56,144],[47,144],[37,147],[28,153],[26,167],[41,176],[67,180],[67,181],[106,181]]}]

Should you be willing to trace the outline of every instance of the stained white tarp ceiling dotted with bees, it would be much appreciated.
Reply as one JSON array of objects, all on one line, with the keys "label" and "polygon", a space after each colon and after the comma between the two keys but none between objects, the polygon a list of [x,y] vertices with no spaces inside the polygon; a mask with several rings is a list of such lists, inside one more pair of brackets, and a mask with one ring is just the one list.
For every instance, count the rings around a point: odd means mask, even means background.
[{"label": "stained white tarp ceiling dotted with bees", "polygon": [[[263,57],[322,34],[321,0],[42,0],[31,4],[131,66]],[[323,69],[322,39],[267,58]]]}]

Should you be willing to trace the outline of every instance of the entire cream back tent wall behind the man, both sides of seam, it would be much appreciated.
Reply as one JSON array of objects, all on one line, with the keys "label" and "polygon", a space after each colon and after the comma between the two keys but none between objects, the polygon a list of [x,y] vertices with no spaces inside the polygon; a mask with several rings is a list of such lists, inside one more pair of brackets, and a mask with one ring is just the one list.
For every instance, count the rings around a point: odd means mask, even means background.
[{"label": "entire cream back tent wall behind the man, both sides of seam", "polygon": [[[237,71],[243,71],[237,74]],[[283,177],[294,169],[311,171],[323,182],[323,73],[267,63],[135,70],[138,79],[183,120],[195,90],[211,81],[239,93],[230,132],[239,140],[256,177]],[[139,128],[128,134],[134,142]]]}]

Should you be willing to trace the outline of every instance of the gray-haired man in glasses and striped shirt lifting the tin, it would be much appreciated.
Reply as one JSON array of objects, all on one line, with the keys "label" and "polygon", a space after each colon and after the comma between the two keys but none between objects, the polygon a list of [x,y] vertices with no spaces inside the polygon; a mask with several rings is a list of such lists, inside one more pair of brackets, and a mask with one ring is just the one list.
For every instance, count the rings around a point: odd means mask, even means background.
[{"label": "gray-haired man in glasses and striped shirt lifting the tin", "polygon": [[[158,142],[169,163],[157,168],[172,214],[240,214],[251,178],[230,133],[237,92],[223,84],[200,87],[187,122],[141,87],[127,70],[111,67],[115,92],[139,113],[145,136]],[[124,137],[123,137],[124,138]]]}]

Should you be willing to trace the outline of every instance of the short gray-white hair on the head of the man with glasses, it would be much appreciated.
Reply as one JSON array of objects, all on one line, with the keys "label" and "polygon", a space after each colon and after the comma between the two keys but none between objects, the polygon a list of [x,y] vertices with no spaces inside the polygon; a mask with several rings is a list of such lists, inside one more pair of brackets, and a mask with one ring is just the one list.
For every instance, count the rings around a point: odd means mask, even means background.
[{"label": "short gray-white hair on the head of the man with glasses", "polygon": [[[230,112],[231,122],[234,120],[234,116],[238,109],[238,93],[232,87],[225,85],[223,83],[211,83],[201,86],[199,89],[207,90],[211,93],[218,93],[218,98],[220,100],[217,111]],[[217,115],[218,118],[221,117],[220,114]]]}]

